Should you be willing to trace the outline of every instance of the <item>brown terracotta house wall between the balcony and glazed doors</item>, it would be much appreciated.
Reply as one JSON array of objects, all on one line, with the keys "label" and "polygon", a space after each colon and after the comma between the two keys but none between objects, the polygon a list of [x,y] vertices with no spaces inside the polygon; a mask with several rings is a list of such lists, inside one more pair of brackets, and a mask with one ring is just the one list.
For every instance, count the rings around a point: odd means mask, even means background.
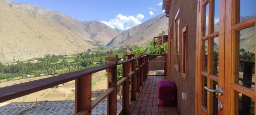
[{"label": "brown terracotta house wall between the balcony and glazed doors", "polygon": [[[170,46],[170,61],[169,61],[169,76],[171,81],[174,81],[178,88],[178,111],[181,115],[195,114],[195,59],[196,59],[196,27],[197,27],[197,0],[173,0],[169,11],[169,26],[173,26],[175,15],[180,8],[180,36],[182,36],[182,29],[188,27],[188,57],[187,57],[187,78],[181,77],[181,72],[174,68],[174,43]],[[172,29],[173,30],[173,29]],[[174,31],[172,32],[174,33]],[[174,34],[172,34],[172,38]],[[180,37],[180,44],[182,38]],[[180,47],[181,51],[181,47]],[[180,62],[181,65],[181,62]],[[181,66],[180,66],[181,70]],[[187,100],[182,100],[181,94],[185,92],[188,94]]]}]

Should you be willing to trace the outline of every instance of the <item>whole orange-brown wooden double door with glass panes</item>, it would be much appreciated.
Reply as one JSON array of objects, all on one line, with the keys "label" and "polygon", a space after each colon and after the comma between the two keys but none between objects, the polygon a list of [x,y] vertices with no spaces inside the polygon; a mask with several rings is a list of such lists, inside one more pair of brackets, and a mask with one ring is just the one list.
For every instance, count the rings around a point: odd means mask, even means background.
[{"label": "whole orange-brown wooden double door with glass panes", "polygon": [[197,114],[255,112],[255,0],[199,0]]}]

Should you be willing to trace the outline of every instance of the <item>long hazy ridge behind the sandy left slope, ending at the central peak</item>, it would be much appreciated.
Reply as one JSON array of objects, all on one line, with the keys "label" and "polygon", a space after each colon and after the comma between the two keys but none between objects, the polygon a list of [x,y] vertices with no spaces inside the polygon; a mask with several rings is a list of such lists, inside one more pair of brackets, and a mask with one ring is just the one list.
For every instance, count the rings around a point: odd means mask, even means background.
[{"label": "long hazy ridge behind the sandy left slope, ending at the central peak", "polygon": [[60,12],[40,8],[38,6],[26,3],[12,3],[11,6],[32,15],[44,15],[50,17],[57,21],[60,25],[66,27],[68,30],[76,34],[78,37],[91,44],[106,44],[113,37],[119,34],[117,30],[114,30],[99,21],[81,22],[74,17],[67,16]]}]

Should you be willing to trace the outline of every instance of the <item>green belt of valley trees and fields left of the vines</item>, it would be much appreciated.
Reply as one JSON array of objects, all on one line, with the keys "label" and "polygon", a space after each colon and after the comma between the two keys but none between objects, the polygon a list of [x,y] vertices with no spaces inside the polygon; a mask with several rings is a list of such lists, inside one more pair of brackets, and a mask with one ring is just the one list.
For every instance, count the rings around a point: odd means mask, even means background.
[{"label": "green belt of valley trees and fields left of the vines", "polygon": [[106,54],[123,54],[119,50],[93,51],[74,54],[71,56],[45,55],[44,58],[35,58],[27,61],[17,60],[14,63],[3,64],[0,62],[0,80],[10,81],[29,77],[45,75],[61,75],[70,72],[80,71],[90,67],[105,64]]}]

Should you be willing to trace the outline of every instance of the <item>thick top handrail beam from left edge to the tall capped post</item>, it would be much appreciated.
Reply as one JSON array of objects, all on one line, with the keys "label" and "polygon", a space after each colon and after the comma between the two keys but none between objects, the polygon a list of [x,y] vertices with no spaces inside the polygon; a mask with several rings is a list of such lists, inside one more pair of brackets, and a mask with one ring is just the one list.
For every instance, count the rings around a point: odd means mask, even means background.
[{"label": "thick top handrail beam from left edge to the tall capped post", "polygon": [[83,76],[91,75],[93,73],[106,70],[115,66],[115,64],[105,64],[93,68],[88,68],[86,70],[72,72],[68,74],[63,74],[59,76],[54,76],[50,78],[30,81],[26,83],[20,83],[12,86],[7,86],[0,88],[0,103],[22,97],[28,94],[35,93],[36,91],[44,90],[58,84],[66,83],[75,79],[79,79]]}]

